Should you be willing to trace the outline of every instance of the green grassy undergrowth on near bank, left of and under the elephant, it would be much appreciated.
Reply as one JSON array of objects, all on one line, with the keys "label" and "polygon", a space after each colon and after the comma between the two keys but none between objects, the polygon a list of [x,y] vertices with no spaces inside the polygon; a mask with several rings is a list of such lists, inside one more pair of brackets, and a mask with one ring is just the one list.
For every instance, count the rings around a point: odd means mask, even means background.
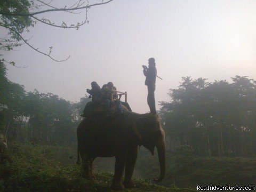
[{"label": "green grassy undergrowth on near bank, left of and under the elephant", "polygon": [[[113,173],[98,172],[95,181],[88,181],[80,176],[80,167],[71,162],[69,155],[54,158],[69,148],[14,142],[9,149],[13,163],[0,165],[0,189],[4,191],[112,191],[108,186]],[[70,163],[61,163],[63,158]],[[137,189],[123,191],[193,191],[161,187],[142,179],[135,183]]]}]

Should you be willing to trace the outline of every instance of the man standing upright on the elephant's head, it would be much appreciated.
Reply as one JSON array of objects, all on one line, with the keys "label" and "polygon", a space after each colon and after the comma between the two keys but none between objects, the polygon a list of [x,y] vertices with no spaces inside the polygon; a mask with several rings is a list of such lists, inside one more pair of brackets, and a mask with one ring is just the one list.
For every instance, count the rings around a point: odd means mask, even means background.
[{"label": "man standing upright on the elephant's head", "polygon": [[155,90],[156,90],[156,63],[154,58],[149,58],[148,67],[143,67],[143,74],[146,76],[145,85],[148,86],[148,106],[151,114],[156,114]]}]

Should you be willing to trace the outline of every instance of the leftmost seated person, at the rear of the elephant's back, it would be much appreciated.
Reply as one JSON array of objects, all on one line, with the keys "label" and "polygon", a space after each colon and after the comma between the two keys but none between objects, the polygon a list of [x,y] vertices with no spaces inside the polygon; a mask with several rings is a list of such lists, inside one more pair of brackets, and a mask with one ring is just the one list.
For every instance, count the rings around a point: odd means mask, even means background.
[{"label": "leftmost seated person, at the rear of the elephant's back", "polygon": [[82,117],[89,117],[92,115],[92,110],[99,105],[101,102],[102,91],[97,82],[91,83],[92,89],[87,89],[86,92],[90,94],[89,98],[92,98],[92,101],[87,102]]}]

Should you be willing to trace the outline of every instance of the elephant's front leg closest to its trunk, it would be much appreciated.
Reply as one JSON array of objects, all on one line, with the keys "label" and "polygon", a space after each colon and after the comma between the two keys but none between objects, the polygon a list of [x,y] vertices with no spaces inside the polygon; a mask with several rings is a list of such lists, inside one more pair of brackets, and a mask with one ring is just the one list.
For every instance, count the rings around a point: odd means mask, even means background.
[{"label": "elephant's front leg closest to its trunk", "polygon": [[132,175],[137,160],[138,147],[131,149],[127,153],[126,163],[125,163],[125,175],[124,175],[124,187],[125,188],[135,188],[136,185],[132,181]]}]

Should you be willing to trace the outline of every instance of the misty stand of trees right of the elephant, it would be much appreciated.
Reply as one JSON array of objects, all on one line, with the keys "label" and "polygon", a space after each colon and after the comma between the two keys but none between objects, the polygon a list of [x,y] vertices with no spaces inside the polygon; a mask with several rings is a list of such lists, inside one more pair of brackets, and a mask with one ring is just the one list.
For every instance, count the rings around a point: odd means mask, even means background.
[{"label": "misty stand of trees right of the elephant", "polygon": [[178,89],[170,89],[171,101],[160,103],[167,147],[202,156],[255,156],[256,81],[206,80],[182,77]]}]

